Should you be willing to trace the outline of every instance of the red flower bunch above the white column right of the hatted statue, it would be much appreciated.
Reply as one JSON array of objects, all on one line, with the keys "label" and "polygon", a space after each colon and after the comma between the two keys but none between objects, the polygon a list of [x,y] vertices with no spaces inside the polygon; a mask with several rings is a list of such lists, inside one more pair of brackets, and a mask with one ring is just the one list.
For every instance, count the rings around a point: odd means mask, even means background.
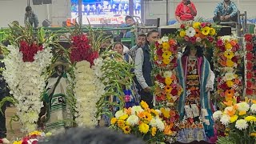
[{"label": "red flower bunch above the white column right of the hatted statue", "polygon": [[86,34],[75,35],[72,37],[72,46],[70,52],[71,62],[81,62],[86,60],[90,65],[94,65],[94,59],[98,58],[98,51],[91,49],[90,40]]}]

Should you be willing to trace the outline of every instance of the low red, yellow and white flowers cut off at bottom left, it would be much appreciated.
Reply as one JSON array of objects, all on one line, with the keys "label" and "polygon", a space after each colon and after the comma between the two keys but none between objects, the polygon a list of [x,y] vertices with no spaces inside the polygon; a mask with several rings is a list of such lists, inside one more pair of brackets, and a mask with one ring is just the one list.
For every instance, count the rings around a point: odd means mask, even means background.
[{"label": "low red, yellow and white flowers cut off at bottom left", "polygon": [[51,135],[51,133],[32,131],[26,137],[23,137],[18,141],[14,141],[13,144],[37,144],[38,142],[45,142],[46,138],[49,138]]}]

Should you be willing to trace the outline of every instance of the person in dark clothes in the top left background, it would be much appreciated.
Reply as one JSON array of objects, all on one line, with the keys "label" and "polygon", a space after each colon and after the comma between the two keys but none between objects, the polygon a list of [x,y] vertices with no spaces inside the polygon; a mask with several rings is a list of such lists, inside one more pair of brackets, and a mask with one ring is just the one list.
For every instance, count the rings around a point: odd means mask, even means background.
[{"label": "person in dark clothes in the top left background", "polygon": [[29,22],[31,26],[34,24],[34,28],[38,28],[38,16],[37,14],[34,14],[32,11],[31,6],[26,6],[26,13],[25,13],[25,18],[24,18],[24,23],[26,26],[26,22]]}]

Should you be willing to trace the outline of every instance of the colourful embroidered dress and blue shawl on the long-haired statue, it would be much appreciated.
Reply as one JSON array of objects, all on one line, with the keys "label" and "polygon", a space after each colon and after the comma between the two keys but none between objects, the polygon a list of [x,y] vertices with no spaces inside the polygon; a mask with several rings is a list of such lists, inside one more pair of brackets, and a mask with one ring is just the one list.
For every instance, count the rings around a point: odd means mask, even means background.
[{"label": "colourful embroidered dress and blue shawl on the long-haired statue", "polygon": [[177,69],[184,90],[178,103],[181,120],[178,142],[207,141],[214,136],[210,93],[206,92],[208,82],[214,81],[210,64],[204,57],[183,56],[178,59]]}]

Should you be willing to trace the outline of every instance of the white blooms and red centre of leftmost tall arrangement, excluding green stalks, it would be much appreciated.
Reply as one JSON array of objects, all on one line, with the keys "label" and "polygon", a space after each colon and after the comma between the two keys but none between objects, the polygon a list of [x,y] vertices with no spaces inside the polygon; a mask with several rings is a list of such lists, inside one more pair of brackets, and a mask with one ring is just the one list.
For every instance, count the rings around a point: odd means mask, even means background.
[{"label": "white blooms and red centre of leftmost tall arrangement, excluding green stalks", "polygon": [[10,87],[10,94],[13,94],[18,102],[14,105],[17,108],[18,120],[22,124],[21,130],[31,132],[37,129],[35,122],[38,121],[38,114],[42,107],[41,94],[46,80],[42,72],[50,66],[53,55],[50,47],[42,46],[35,53],[29,50],[41,46],[26,44],[28,47],[24,50],[23,44],[25,45],[25,42],[20,43],[21,47],[7,46],[6,49],[10,54],[3,60],[6,65],[3,76]]}]

